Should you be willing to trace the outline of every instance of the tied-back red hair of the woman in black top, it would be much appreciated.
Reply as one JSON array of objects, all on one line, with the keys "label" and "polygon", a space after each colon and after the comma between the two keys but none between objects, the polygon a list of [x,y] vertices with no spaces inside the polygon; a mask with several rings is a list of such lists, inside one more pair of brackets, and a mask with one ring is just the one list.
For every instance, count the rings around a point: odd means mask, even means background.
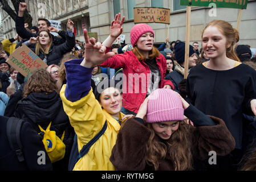
[{"label": "tied-back red hair of the woman in black top", "polygon": [[202,36],[204,34],[205,29],[208,28],[209,26],[217,27],[218,30],[220,30],[222,34],[226,37],[227,44],[231,44],[230,47],[226,48],[226,56],[229,59],[233,59],[235,61],[241,62],[237,57],[237,54],[235,53],[235,43],[239,41],[239,32],[235,28],[233,28],[229,22],[215,19],[215,20],[212,20],[212,22],[207,24],[207,26],[202,31]]}]

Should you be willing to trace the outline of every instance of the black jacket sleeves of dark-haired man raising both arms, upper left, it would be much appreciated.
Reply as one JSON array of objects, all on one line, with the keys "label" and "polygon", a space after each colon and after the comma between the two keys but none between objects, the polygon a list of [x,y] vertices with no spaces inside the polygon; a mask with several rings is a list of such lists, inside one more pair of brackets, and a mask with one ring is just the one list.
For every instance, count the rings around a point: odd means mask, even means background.
[{"label": "black jacket sleeves of dark-haired man raising both arms, upper left", "polygon": [[[19,34],[19,36],[21,36],[22,39],[30,39],[32,37],[36,38],[38,36],[38,34],[33,34],[26,30],[26,28],[24,27],[24,18],[23,17],[16,16],[15,27],[16,27],[17,34]],[[64,42],[66,42],[66,32],[60,30],[59,35],[62,38],[58,38],[57,36],[52,36],[52,43],[55,46],[58,46],[60,44],[63,44]]]}]

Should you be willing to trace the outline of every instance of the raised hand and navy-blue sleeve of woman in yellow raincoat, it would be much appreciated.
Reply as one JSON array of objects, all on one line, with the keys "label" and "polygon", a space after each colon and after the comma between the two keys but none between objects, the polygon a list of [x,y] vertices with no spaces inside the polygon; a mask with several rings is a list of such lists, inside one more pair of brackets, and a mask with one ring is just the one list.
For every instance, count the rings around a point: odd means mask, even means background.
[{"label": "raised hand and navy-blue sleeve of woman in yellow raincoat", "polygon": [[82,60],[72,60],[65,63],[67,73],[67,85],[65,96],[67,100],[75,102],[87,96],[91,90],[92,69],[104,60],[115,55],[113,52],[105,53],[105,47],[89,39],[87,30],[84,29],[86,40],[86,57]]}]

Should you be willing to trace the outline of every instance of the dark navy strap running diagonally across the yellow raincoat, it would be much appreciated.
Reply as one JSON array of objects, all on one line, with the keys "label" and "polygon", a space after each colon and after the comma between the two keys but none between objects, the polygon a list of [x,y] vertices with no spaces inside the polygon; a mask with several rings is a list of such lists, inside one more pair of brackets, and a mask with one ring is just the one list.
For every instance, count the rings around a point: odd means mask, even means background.
[{"label": "dark navy strap running diagonally across the yellow raincoat", "polygon": [[106,129],[107,121],[105,121],[104,126],[99,131],[99,133],[97,133],[94,138],[92,138],[86,145],[84,145],[80,152],[78,152],[78,137],[75,135],[74,143],[70,154],[70,161],[68,162],[68,171],[72,171],[74,169],[75,164],[78,162],[78,160],[88,153],[91,146],[97,141],[97,139],[101,137],[101,135],[105,133]]}]

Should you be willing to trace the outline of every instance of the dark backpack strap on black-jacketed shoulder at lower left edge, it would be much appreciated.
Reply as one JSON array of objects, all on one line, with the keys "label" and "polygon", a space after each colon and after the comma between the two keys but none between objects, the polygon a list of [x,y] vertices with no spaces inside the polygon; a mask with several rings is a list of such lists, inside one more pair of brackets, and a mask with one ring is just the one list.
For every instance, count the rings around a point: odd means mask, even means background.
[{"label": "dark backpack strap on black-jacketed shoulder at lower left edge", "polygon": [[13,149],[15,154],[17,155],[19,162],[23,162],[25,160],[22,152],[21,143],[22,124],[22,119],[11,117],[8,119],[6,126],[7,138],[9,140],[11,149]]}]

